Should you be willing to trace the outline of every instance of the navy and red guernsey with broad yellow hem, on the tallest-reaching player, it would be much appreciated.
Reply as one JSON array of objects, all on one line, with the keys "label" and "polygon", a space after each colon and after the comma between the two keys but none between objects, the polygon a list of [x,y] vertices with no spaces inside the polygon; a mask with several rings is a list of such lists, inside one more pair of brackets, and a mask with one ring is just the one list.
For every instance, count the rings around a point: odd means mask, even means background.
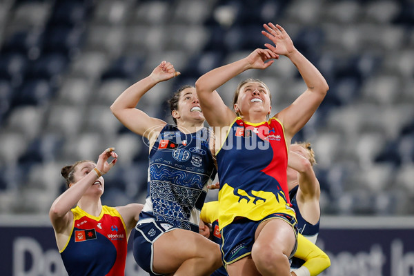
[{"label": "navy and red guernsey with broad yellow hem, on the tallest-reaching player", "polygon": [[295,217],[286,179],[288,147],[278,119],[253,124],[237,117],[216,156],[220,229],[236,218]]}]

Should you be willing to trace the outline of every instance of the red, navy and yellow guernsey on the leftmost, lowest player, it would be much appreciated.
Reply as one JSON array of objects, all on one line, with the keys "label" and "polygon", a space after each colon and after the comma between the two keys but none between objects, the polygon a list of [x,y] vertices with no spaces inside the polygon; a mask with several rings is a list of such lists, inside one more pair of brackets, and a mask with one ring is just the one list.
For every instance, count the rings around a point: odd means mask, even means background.
[{"label": "red, navy and yellow guernsey on the leftmost, lowest player", "polygon": [[124,275],[128,241],[118,211],[102,206],[95,217],[77,206],[72,213],[72,233],[60,251],[68,275]]}]

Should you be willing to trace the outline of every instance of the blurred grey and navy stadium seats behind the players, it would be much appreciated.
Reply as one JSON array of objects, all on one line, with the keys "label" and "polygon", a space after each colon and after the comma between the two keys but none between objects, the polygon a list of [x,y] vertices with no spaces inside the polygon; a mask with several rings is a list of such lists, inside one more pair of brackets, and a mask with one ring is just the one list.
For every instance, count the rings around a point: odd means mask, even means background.
[{"label": "blurred grey and navy stadium seats behind the players", "polygon": [[[316,152],[322,217],[413,219],[413,0],[1,0],[0,215],[45,216],[65,189],[61,167],[95,161],[108,146],[119,162],[105,176],[103,204],[144,202],[148,148],[110,104],[167,60],[181,76],[139,107],[172,122],[172,92],[263,48],[270,21],[330,86],[294,137]],[[220,88],[226,103],[245,77],[268,84],[273,110],[305,90],[281,57]]]}]

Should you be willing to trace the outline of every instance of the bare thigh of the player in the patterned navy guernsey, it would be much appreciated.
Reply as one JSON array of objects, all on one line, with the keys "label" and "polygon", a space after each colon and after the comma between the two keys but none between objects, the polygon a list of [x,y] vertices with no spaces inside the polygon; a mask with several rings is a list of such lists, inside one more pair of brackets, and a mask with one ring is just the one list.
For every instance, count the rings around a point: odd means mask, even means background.
[{"label": "bare thigh of the player in the patterned navy guernsey", "polygon": [[158,273],[177,270],[187,259],[220,255],[219,245],[189,230],[175,229],[154,242],[153,268]]}]

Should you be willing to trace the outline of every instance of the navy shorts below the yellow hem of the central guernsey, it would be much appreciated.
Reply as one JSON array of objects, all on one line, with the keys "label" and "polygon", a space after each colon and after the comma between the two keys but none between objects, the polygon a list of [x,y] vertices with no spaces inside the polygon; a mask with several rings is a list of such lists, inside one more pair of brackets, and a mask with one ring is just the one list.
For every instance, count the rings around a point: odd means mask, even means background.
[{"label": "navy shorts below the yellow hem of the central guernsey", "polygon": [[[228,264],[233,264],[239,259],[250,255],[252,253],[253,244],[255,243],[255,232],[257,226],[259,226],[259,224],[263,221],[275,218],[283,219],[288,222],[288,224],[293,227],[295,237],[297,237],[296,219],[290,215],[275,213],[268,215],[259,221],[253,221],[246,218],[237,219],[221,229],[222,244],[220,249],[224,265],[227,266]],[[293,248],[290,258],[295,254],[296,248],[297,242],[295,244],[295,248]]]}]

